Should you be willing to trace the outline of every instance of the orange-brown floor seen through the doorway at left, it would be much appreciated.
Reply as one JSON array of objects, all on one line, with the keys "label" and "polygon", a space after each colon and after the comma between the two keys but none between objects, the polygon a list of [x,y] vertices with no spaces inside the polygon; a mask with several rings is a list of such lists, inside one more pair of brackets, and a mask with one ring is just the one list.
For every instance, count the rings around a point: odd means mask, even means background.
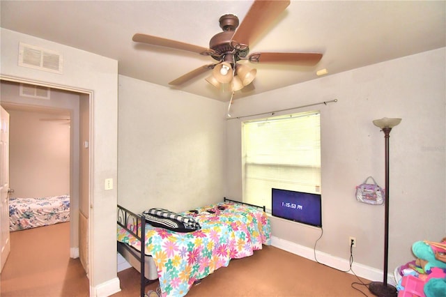
[{"label": "orange-brown floor seen through the doorway at left", "polygon": [[0,295],[89,296],[79,259],[70,259],[70,223],[10,233],[11,252],[1,272]]}]

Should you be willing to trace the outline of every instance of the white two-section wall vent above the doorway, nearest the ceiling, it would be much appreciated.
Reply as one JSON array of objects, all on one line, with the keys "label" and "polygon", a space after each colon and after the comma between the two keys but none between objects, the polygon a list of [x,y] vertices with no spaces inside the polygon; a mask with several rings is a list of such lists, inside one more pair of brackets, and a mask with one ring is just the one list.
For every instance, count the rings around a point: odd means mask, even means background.
[{"label": "white two-section wall vent above the doorway, nearest the ceiling", "polygon": [[62,62],[58,52],[20,43],[19,66],[62,74]]}]

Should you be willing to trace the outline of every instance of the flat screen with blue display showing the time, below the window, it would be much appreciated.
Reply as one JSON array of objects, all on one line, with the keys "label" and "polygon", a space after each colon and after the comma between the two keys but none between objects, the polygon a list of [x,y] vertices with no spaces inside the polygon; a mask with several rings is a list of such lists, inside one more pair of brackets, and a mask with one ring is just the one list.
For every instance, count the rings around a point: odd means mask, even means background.
[{"label": "flat screen with blue display showing the time, below the window", "polygon": [[272,215],[286,220],[322,227],[320,194],[272,189]]}]

